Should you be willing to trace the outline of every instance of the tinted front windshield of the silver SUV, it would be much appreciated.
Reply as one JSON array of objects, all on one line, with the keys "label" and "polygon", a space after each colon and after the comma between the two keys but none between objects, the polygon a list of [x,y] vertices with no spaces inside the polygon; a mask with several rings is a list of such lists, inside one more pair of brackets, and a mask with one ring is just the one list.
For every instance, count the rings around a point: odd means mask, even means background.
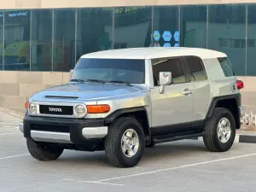
[{"label": "tinted front windshield of the silver SUV", "polygon": [[81,58],[74,69],[72,79],[84,81],[96,79],[104,82],[123,81],[130,84],[144,84],[144,77],[144,60]]}]

